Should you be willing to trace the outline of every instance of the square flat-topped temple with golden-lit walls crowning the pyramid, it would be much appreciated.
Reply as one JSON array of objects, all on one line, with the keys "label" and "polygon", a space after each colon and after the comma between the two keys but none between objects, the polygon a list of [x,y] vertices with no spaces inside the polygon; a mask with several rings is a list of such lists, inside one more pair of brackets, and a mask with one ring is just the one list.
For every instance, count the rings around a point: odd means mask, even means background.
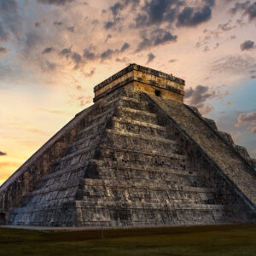
[{"label": "square flat-topped temple with golden-lit walls crowning the pyramid", "polygon": [[185,81],[183,79],[178,79],[172,76],[172,74],[162,73],[137,64],[130,64],[119,71],[119,73],[115,73],[95,86],[94,102],[101,100],[122,87],[183,102],[184,85]]}]

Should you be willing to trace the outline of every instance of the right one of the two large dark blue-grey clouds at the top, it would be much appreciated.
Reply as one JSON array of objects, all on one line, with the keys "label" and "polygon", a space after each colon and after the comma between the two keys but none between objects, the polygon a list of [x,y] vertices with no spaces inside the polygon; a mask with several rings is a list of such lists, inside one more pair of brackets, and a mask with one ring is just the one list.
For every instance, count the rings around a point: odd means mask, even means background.
[{"label": "right one of the two large dark blue-grey clouds at the top", "polygon": [[197,11],[192,7],[185,7],[177,16],[177,26],[197,26],[211,18],[212,9],[209,6]]}]

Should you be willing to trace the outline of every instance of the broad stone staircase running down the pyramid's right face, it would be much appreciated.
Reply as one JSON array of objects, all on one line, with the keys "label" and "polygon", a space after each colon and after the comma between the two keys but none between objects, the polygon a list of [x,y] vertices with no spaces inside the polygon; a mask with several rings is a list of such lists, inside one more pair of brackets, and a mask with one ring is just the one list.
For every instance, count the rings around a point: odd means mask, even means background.
[{"label": "broad stone staircase running down the pyramid's right face", "polygon": [[230,139],[220,136],[220,132],[207,125],[200,113],[194,111],[195,108],[157,96],[150,98],[201,148],[208,160],[234,186],[236,193],[256,212],[256,172],[247,159],[236,151]]}]

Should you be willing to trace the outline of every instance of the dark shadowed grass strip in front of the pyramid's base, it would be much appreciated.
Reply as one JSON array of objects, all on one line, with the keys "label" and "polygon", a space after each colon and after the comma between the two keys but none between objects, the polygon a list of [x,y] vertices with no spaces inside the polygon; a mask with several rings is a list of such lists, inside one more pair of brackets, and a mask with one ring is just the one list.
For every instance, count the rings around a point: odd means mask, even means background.
[{"label": "dark shadowed grass strip in front of the pyramid's base", "polygon": [[256,224],[41,233],[0,229],[0,255],[256,255]]}]

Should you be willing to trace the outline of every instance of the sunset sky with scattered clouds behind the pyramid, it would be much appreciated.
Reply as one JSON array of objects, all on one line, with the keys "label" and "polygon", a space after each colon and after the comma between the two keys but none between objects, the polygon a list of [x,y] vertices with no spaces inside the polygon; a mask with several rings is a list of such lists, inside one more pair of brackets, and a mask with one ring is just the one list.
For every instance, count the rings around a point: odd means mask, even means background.
[{"label": "sunset sky with scattered clouds behind the pyramid", "polygon": [[0,0],[0,184],[130,63],[256,158],[256,2]]}]

